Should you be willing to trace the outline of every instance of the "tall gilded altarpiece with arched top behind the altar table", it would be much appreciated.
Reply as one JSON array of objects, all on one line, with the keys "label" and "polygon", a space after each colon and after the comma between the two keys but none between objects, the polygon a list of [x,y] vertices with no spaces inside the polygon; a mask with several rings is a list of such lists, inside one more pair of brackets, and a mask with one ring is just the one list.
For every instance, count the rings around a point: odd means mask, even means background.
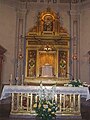
[{"label": "tall gilded altarpiece with arched top behind the altar table", "polygon": [[59,14],[50,8],[38,13],[26,36],[25,83],[64,84],[69,80],[69,34]]}]

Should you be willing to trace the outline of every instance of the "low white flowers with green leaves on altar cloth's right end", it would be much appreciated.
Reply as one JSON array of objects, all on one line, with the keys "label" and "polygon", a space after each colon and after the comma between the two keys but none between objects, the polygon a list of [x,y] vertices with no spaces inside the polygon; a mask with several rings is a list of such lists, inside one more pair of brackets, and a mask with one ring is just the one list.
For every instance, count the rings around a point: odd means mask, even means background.
[{"label": "low white flowers with green leaves on altar cloth's right end", "polygon": [[71,80],[68,84],[64,84],[64,86],[69,87],[83,87],[83,83],[80,80]]}]

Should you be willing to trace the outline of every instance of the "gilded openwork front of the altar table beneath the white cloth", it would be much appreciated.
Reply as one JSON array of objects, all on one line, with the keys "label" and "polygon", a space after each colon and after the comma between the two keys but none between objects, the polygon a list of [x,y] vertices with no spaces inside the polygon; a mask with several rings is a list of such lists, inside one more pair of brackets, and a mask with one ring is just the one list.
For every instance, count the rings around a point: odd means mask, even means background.
[{"label": "gilded openwork front of the altar table beneath the white cloth", "polygon": [[[58,104],[57,114],[80,114],[80,94],[55,94]],[[11,114],[35,114],[34,104],[39,100],[37,94],[12,93]]]}]

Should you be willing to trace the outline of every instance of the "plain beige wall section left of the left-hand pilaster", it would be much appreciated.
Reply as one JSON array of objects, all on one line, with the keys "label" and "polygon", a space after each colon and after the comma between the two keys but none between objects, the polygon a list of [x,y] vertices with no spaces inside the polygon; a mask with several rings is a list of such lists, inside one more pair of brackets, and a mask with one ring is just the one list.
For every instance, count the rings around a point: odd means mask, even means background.
[{"label": "plain beige wall section left of the left-hand pilaster", "polygon": [[4,84],[9,83],[9,76],[14,72],[14,45],[16,15],[14,8],[0,4],[0,45],[7,51],[3,63],[2,81]]}]

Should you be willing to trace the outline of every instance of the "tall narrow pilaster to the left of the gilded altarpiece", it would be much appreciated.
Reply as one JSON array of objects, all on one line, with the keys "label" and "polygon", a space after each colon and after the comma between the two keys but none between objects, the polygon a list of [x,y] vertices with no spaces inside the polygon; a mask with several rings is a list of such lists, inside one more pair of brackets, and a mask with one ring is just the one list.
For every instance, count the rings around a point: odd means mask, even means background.
[{"label": "tall narrow pilaster to the left of the gilded altarpiece", "polygon": [[15,83],[21,84],[25,74],[27,9],[16,9]]}]

